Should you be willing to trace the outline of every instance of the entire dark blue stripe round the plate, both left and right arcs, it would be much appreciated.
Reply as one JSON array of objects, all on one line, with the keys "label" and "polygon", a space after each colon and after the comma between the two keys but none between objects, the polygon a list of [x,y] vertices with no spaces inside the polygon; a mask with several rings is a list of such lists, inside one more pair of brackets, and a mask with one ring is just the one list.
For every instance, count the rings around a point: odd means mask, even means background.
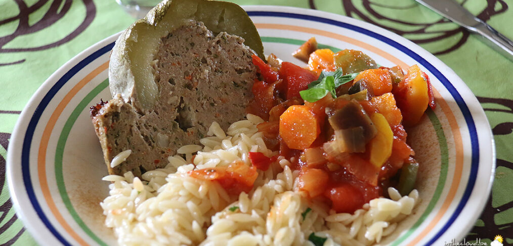
[{"label": "entire dark blue stripe round the plate, both left and right arcs", "polygon": [[[330,25],[335,25],[343,28],[347,28],[353,31],[360,32],[362,34],[371,36],[373,38],[376,38],[378,40],[381,40],[384,43],[387,43],[388,45],[391,45],[395,47],[398,50],[401,50],[411,58],[417,60],[420,64],[422,64],[424,67],[426,67],[433,75],[435,75],[442,84],[447,88],[449,93],[456,99],[456,102],[458,104],[458,107],[462,111],[465,121],[467,123],[467,127],[470,133],[470,142],[471,142],[471,149],[472,149],[472,155],[471,155],[471,168],[470,168],[470,176],[467,183],[467,187],[465,188],[465,192],[463,194],[463,198],[458,204],[458,207],[454,214],[450,217],[449,221],[444,225],[442,230],[440,230],[436,236],[432,237],[426,245],[432,244],[435,242],[443,233],[451,226],[451,224],[456,220],[456,218],[460,215],[461,211],[465,207],[466,202],[468,201],[468,198],[470,197],[470,194],[473,190],[473,187],[476,182],[477,177],[477,171],[479,168],[479,142],[476,132],[476,126],[474,124],[474,121],[471,117],[470,111],[465,104],[463,98],[459,94],[459,92],[454,88],[454,86],[447,80],[447,78],[438,71],[435,67],[433,67],[428,61],[426,61],[424,58],[422,58],[417,53],[411,51],[410,49],[402,46],[401,44],[395,42],[394,40],[387,38],[385,36],[382,36],[378,33],[369,31],[367,29],[363,29],[358,26],[354,26],[351,24],[339,22],[337,20],[332,20],[328,18],[323,17],[317,17],[317,16],[311,16],[306,14],[294,14],[294,13],[286,13],[286,12],[266,12],[266,11],[248,11],[248,14],[250,16],[277,16],[277,17],[287,17],[287,18],[297,18],[297,19],[306,19],[306,20],[313,20],[315,22],[321,22],[326,23]],[[36,213],[41,218],[41,220],[45,223],[47,228],[52,232],[52,234],[60,240],[65,245],[71,245],[66,239],[64,239],[63,236],[61,236],[55,228],[51,225],[46,215],[43,213],[40,204],[37,202],[37,199],[34,194],[34,190],[32,187],[32,182],[30,180],[30,169],[29,169],[29,153],[30,153],[30,144],[32,141],[32,137],[34,134],[35,127],[37,125],[37,122],[41,118],[41,115],[43,114],[43,111],[45,110],[46,106],[52,99],[52,97],[57,93],[58,90],[62,88],[64,84],[67,83],[67,81],[78,71],[80,71],[82,68],[84,68],[87,64],[91,63],[94,59],[97,57],[100,57],[101,55],[107,53],[112,49],[114,46],[114,43],[111,43],[105,47],[103,47],[100,50],[95,51],[88,57],[86,57],[84,60],[80,61],[77,65],[75,65],[72,69],[70,69],[66,74],[61,77],[57,83],[50,89],[50,91],[43,97],[41,103],[36,108],[34,114],[32,115],[32,118],[30,119],[29,126],[27,129],[27,132],[25,134],[25,139],[23,143],[23,149],[22,149],[22,172],[23,172],[23,178],[25,187],[27,190],[27,194],[29,196],[29,199],[32,203],[32,206],[34,207]]]}]

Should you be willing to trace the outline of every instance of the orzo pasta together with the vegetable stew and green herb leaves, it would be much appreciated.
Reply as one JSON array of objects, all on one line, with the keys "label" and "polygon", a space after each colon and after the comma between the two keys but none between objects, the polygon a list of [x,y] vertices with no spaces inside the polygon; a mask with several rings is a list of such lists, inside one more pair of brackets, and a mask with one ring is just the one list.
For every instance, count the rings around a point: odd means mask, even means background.
[{"label": "orzo pasta together with the vegetable stew and green herb leaves", "polygon": [[[202,29],[193,25],[185,32]],[[435,107],[427,75],[416,65],[378,67],[356,50],[304,54],[307,68],[248,56],[254,77],[248,97],[237,98],[246,112],[197,121],[204,136],[170,144],[180,148],[161,153],[162,166],[104,177],[101,206],[120,245],[370,245],[396,231],[419,203],[422,163],[403,124]],[[155,76],[166,83],[183,76],[163,71]],[[111,162],[133,152],[120,149]]]}]

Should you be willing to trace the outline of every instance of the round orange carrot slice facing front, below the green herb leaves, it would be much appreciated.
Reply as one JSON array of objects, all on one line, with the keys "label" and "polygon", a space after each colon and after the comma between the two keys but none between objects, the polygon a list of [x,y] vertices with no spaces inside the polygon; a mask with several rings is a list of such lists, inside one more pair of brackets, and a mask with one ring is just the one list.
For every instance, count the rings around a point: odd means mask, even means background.
[{"label": "round orange carrot slice facing front, below the green herb leaves", "polygon": [[307,106],[290,106],[280,116],[280,136],[291,149],[307,149],[319,133],[319,122]]}]

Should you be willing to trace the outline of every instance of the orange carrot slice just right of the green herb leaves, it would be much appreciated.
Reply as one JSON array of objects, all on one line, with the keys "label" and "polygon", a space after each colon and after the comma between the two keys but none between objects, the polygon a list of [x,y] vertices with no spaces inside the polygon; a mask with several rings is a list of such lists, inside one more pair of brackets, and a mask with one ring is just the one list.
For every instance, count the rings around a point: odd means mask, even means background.
[{"label": "orange carrot slice just right of the green herb leaves", "polygon": [[367,85],[372,87],[374,95],[380,96],[392,91],[392,78],[386,69],[367,69],[354,78],[354,81],[365,79]]}]

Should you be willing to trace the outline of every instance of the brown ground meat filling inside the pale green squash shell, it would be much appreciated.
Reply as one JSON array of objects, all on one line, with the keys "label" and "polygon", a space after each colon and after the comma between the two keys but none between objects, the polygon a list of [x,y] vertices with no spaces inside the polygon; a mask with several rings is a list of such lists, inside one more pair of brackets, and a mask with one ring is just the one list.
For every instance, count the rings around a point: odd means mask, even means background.
[{"label": "brown ground meat filling inside the pale green squash shell", "polygon": [[[177,148],[198,144],[212,121],[226,129],[244,118],[256,68],[243,41],[224,32],[214,36],[202,23],[163,37],[153,64],[159,88],[153,109],[143,115],[116,96],[91,114],[109,173],[141,176],[165,167]],[[111,168],[129,149],[126,161]]]}]

